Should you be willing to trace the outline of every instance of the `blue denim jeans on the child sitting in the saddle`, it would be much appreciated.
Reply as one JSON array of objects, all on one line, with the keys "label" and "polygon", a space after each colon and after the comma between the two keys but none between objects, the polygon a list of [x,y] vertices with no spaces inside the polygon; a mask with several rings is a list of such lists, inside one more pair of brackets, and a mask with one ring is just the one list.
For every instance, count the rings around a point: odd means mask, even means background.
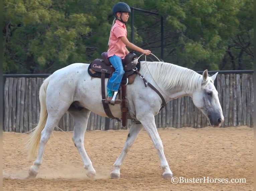
[{"label": "blue denim jeans on the child sitting in the saddle", "polygon": [[122,60],[119,56],[114,55],[109,57],[109,62],[114,67],[115,72],[113,72],[111,78],[108,81],[107,89],[111,91],[118,91],[124,75]]}]

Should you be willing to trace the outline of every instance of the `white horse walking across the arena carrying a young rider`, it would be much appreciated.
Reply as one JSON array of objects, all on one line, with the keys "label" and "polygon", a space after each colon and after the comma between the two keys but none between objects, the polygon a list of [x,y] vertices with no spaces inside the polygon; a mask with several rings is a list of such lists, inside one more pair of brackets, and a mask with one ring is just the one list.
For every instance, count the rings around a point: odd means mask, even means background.
[{"label": "white horse walking across the arena carrying a young rider", "polygon": [[[51,132],[65,112],[75,121],[72,140],[84,162],[86,174],[94,177],[96,171],[84,148],[84,135],[90,112],[107,117],[102,105],[101,79],[92,78],[88,72],[89,64],[75,63],[55,71],[44,80],[39,91],[41,105],[40,120],[28,140],[30,156],[38,150],[37,158],[29,169],[29,178],[36,177],[42,163],[43,151]],[[188,95],[194,104],[208,117],[212,126],[220,126],[224,121],[218,92],[214,86],[217,73],[208,76],[193,70],[164,62],[141,62],[140,73],[151,83],[168,102]],[[107,79],[106,79],[107,83]],[[133,84],[127,86],[128,109],[135,119],[129,129],[123,150],[115,161],[111,178],[120,178],[120,167],[135,138],[144,127],[157,150],[163,178],[171,179],[172,172],[164,155],[163,144],[157,132],[154,116],[162,104],[160,96],[150,87],[145,87],[137,75]],[[80,109],[74,107],[79,104]],[[110,105],[112,114],[121,118],[121,105]]]}]

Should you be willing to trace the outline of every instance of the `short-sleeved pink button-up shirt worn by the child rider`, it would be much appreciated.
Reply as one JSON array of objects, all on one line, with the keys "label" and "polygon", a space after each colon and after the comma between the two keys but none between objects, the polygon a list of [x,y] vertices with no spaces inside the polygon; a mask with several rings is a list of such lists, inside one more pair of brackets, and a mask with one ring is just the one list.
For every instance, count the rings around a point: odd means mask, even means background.
[{"label": "short-sleeved pink button-up shirt worn by the child rider", "polygon": [[124,59],[126,55],[125,44],[120,37],[127,37],[127,30],[124,23],[116,20],[110,31],[108,57],[116,55]]}]

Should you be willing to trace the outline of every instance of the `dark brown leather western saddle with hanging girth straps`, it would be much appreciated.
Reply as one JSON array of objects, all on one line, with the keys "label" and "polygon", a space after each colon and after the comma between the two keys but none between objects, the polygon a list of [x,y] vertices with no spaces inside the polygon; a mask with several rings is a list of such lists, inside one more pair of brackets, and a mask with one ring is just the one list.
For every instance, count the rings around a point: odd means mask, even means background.
[{"label": "dark brown leather western saddle with hanging girth straps", "polygon": [[[120,121],[120,119],[113,116],[111,113],[111,110],[109,108],[109,104],[105,103],[106,99],[106,93],[105,93],[105,78],[110,78],[112,76],[112,73],[115,71],[114,67],[109,62],[107,52],[103,52],[101,54],[101,59],[95,59],[88,67],[88,73],[90,76],[95,78],[101,78],[101,94],[102,94],[102,104],[103,108],[105,110],[105,113],[108,117],[112,119],[117,119]],[[134,60],[138,58],[137,55],[133,52],[130,52],[128,55],[125,56],[125,58],[122,60],[123,68],[124,68],[124,75],[121,81],[121,97],[122,97],[122,125],[126,126],[126,118],[127,118],[127,100],[126,100],[126,85],[132,84],[134,82],[134,79],[137,75],[135,71],[139,71],[140,69],[140,62],[135,63]],[[135,69],[135,70],[134,70]],[[119,91],[120,93],[120,91]],[[120,94],[119,94],[120,96]]]}]

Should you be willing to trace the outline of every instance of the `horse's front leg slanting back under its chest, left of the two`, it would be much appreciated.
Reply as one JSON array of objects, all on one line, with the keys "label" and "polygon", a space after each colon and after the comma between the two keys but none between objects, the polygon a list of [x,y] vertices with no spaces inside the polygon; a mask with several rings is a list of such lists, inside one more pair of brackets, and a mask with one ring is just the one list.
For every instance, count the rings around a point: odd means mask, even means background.
[{"label": "horse's front leg slanting back under its chest, left of the two", "polygon": [[142,128],[143,128],[142,124],[132,123],[129,133],[127,135],[127,139],[124,143],[123,150],[113,165],[114,169],[110,174],[111,178],[113,178],[113,179],[120,178],[120,168],[124,161],[124,158],[125,158],[127,152],[131,149],[131,146],[134,143],[135,138],[137,137],[139,132],[142,130]]}]

